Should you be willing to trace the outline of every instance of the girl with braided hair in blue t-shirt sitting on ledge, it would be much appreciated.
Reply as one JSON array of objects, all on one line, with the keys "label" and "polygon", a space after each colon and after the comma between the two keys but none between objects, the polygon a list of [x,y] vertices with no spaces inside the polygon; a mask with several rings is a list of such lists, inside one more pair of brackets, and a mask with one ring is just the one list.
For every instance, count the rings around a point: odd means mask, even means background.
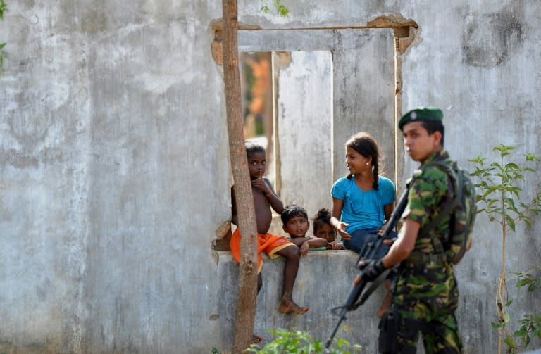
[{"label": "girl with braided hair in blue t-shirt sitting on ledge", "polygon": [[[344,240],[344,247],[360,253],[378,236],[394,210],[394,184],[379,175],[378,144],[366,132],[354,134],[345,144],[349,174],[332,185],[331,225]],[[387,246],[374,259],[382,258]],[[382,316],[391,301],[391,283],[385,282],[387,296],[378,311]]]}]

